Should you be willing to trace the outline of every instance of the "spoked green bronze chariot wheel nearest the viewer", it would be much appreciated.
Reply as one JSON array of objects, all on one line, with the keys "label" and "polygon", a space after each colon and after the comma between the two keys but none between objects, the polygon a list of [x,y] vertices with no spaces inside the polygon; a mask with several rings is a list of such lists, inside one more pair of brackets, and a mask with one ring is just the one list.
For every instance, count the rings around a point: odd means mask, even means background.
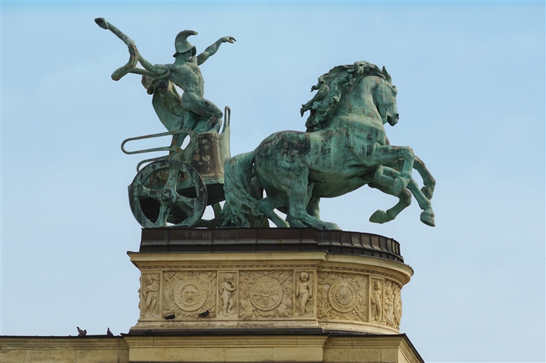
[{"label": "spoked green bronze chariot wheel nearest the viewer", "polygon": [[206,208],[206,186],[191,165],[166,159],[142,168],[129,189],[132,214],[144,228],[191,228]]}]

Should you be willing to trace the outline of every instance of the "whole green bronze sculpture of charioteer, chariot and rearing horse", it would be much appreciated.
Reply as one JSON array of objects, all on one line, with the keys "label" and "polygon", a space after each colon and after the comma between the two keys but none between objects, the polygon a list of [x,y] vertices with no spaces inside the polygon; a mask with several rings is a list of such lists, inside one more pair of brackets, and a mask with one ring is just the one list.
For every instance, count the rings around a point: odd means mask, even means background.
[{"label": "whole green bronze sculpture of charioteer, chariot and rearing horse", "polygon": [[[185,30],[175,38],[175,62],[152,65],[142,58],[135,42],[107,23],[128,46],[130,59],[112,74],[121,79],[128,73],[142,75],[142,84],[153,95],[152,105],[168,132],[133,137],[123,141],[124,153],[168,151],[168,155],[142,160],[129,186],[130,206],[142,227],[314,227],[339,229],[323,222],[319,215],[321,198],[333,198],[368,184],[397,196],[398,203],[377,210],[371,222],[389,222],[411,203],[413,195],[421,210],[421,222],[434,226],[430,206],[435,180],[425,164],[408,146],[391,146],[383,125],[396,125],[396,87],[388,72],[367,62],[340,65],[318,78],[311,87],[315,96],[302,105],[309,111],[306,132],[277,132],[251,153],[230,157],[230,111],[223,113],[204,96],[199,65],[224,43],[223,37],[196,56]],[[137,68],[140,63],[144,69]],[[175,86],[183,93],[178,94]],[[190,135],[190,144],[182,141]],[[170,146],[126,151],[129,141],[172,136]],[[144,165],[144,167],[141,166]],[[411,177],[415,169],[423,188]],[[263,191],[266,197],[263,197]],[[225,200],[224,209],[220,202]],[[206,205],[215,218],[201,219]],[[284,212],[286,219],[275,213]]]}]

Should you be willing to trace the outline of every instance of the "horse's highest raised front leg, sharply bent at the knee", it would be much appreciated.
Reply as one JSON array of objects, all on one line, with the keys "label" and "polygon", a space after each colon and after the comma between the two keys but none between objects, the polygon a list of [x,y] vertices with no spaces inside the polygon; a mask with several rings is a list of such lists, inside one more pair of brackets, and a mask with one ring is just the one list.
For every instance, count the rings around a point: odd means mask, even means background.
[{"label": "horse's highest raised front leg, sharply bent at the knee", "polygon": [[411,169],[414,167],[415,154],[409,146],[377,145],[371,151],[369,159],[373,165],[387,165],[395,160],[403,159],[404,165],[399,176],[395,179],[392,195],[397,196],[406,189],[411,178]]}]

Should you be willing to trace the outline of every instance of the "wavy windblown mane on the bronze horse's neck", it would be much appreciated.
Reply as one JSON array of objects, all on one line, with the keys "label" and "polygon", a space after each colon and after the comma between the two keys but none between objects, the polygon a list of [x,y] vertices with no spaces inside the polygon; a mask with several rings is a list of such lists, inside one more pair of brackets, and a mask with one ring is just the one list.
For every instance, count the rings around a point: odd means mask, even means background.
[{"label": "wavy windblown mane on the bronze horse's neck", "polygon": [[380,70],[377,65],[364,60],[355,62],[352,65],[337,65],[328,73],[318,77],[318,83],[311,87],[311,92],[318,90],[310,101],[302,105],[300,114],[309,110],[305,126],[307,132],[314,132],[324,129],[330,125],[337,103],[340,101],[342,91],[351,87],[362,77],[375,75],[391,82],[390,75],[383,67]]}]

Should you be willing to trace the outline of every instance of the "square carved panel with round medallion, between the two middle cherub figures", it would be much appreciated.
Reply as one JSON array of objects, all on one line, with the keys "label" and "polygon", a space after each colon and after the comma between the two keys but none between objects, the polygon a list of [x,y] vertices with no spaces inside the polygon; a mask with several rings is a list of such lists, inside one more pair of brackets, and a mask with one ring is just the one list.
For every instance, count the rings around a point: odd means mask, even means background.
[{"label": "square carved panel with round medallion, between the two middle cherub figures", "polygon": [[239,317],[292,317],[293,271],[240,271]]}]

